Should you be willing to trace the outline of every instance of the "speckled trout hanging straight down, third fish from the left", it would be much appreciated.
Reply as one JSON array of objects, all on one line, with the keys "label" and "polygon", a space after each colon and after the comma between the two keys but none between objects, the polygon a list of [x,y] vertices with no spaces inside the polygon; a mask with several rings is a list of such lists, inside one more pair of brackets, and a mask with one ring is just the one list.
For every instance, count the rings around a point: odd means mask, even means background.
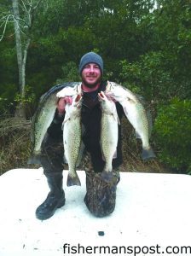
[{"label": "speckled trout hanging straight down, third fish from the left", "polygon": [[108,181],[113,177],[112,161],[117,155],[119,117],[115,103],[107,99],[104,92],[98,93],[101,102],[101,151],[106,161],[102,177]]}]

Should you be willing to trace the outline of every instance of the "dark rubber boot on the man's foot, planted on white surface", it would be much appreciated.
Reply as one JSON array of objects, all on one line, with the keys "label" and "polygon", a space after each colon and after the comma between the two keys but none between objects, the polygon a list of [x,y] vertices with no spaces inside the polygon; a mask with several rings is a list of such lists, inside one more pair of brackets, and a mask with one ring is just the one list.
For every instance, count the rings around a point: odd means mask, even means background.
[{"label": "dark rubber boot on the man's foot, planted on white surface", "polygon": [[44,220],[52,217],[57,208],[65,204],[65,194],[62,189],[62,173],[47,177],[49,194],[45,201],[37,208],[36,217]]}]

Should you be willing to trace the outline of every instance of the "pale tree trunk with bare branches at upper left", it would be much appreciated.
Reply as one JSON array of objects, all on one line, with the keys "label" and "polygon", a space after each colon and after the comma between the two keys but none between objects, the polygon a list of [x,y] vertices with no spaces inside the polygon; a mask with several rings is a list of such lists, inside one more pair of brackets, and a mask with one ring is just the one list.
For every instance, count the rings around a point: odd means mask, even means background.
[{"label": "pale tree trunk with bare branches at upper left", "polygon": [[[0,17],[0,28],[3,31],[2,35],[0,35],[0,41],[2,41],[4,37],[8,23],[13,22],[17,53],[17,64],[19,71],[20,95],[25,96],[26,57],[29,45],[31,44],[32,40],[32,21],[34,19],[36,11],[38,10],[39,4],[42,3],[43,0],[12,0],[11,2],[12,9],[6,15],[5,13],[2,12]],[[47,3],[47,1],[44,2]],[[21,12],[20,9],[22,10]],[[21,33],[25,36],[21,36]],[[18,110],[23,110],[23,106],[21,106],[21,104],[17,107]],[[23,111],[21,116],[25,117]]]}]

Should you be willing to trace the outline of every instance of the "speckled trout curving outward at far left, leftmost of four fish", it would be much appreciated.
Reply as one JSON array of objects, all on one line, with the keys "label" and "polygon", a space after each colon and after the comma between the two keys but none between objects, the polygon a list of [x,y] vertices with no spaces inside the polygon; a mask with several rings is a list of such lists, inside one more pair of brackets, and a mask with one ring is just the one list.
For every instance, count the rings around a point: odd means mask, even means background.
[{"label": "speckled trout curving outward at far left, leftmost of four fish", "polygon": [[[66,86],[67,84],[71,84],[72,86]],[[32,155],[27,164],[40,164],[41,146],[47,129],[55,116],[55,109],[58,102],[57,94],[61,91],[62,96],[77,95],[79,88],[81,88],[81,83],[66,83],[56,85],[41,96],[38,109],[32,117],[31,140],[33,148]]]}]

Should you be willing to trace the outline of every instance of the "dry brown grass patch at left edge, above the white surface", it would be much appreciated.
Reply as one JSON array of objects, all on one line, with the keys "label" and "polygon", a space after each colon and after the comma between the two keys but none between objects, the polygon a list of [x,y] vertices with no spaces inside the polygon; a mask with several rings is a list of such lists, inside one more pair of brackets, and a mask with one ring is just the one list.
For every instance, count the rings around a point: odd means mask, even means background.
[{"label": "dry brown grass patch at left edge, above the white surface", "polygon": [[26,167],[30,154],[31,122],[9,117],[0,120],[0,174]]}]

